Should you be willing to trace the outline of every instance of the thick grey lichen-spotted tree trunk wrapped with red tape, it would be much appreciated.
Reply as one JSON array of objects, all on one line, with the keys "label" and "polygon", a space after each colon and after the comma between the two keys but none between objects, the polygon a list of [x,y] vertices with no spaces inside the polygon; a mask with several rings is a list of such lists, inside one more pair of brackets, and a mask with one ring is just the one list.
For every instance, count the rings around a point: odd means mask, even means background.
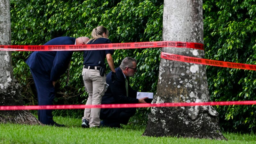
[{"label": "thick grey lichen-spotted tree trunk wrapped with red tape", "polygon": [[[163,41],[203,43],[203,1],[165,0]],[[204,58],[204,51],[164,47],[162,52]],[[204,65],[162,59],[153,103],[210,101]],[[152,108],[143,136],[227,140],[212,106]]]}]

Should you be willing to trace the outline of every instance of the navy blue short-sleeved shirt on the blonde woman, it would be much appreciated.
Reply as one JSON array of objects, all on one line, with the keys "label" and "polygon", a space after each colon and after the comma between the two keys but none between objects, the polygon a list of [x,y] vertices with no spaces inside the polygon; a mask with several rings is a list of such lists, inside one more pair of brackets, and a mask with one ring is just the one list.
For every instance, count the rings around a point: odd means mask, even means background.
[{"label": "navy blue short-sleeved shirt on the blonde woman", "polygon": [[[108,38],[100,37],[96,40],[92,39],[87,44],[110,44],[111,41]],[[101,66],[99,61],[102,64],[105,62],[106,55],[110,53],[111,55],[114,54],[114,50],[90,50],[84,51],[84,65],[85,66]]]}]

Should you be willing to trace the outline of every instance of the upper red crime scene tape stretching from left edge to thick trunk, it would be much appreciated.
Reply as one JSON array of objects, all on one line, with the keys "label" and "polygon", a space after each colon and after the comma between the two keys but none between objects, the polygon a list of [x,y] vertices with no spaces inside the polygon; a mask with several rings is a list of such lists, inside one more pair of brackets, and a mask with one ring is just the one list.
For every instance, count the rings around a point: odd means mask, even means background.
[{"label": "upper red crime scene tape stretching from left edge to thick trunk", "polygon": [[138,49],[154,47],[178,47],[204,50],[204,44],[191,42],[137,42],[112,44],[82,44],[82,45],[0,45],[0,51],[82,51],[109,49]]}]

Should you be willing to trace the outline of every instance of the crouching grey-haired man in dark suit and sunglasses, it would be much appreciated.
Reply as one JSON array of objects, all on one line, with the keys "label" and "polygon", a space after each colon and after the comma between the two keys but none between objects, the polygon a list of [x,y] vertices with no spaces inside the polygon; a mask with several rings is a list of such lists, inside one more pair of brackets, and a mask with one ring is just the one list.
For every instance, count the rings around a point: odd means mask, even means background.
[{"label": "crouching grey-haired man in dark suit and sunglasses", "polygon": [[[134,76],[136,68],[137,60],[126,57],[115,69],[116,73],[111,71],[107,75],[106,82],[109,86],[102,97],[101,104],[146,103],[145,99],[148,97],[136,99],[137,91],[133,90],[129,84],[129,77]],[[120,128],[120,124],[127,124],[135,112],[136,108],[101,108],[101,126]]]}]

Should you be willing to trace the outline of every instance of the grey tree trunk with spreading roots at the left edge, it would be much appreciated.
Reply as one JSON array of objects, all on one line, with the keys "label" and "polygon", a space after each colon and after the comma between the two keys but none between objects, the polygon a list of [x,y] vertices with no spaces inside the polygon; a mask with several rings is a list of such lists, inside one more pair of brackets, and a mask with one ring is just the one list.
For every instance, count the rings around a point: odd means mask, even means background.
[{"label": "grey tree trunk with spreading roots at the left edge", "polygon": [[[11,44],[10,0],[0,0],[0,45]],[[0,51],[0,105],[23,105],[12,73],[11,52]],[[41,124],[29,111],[0,111],[0,123]]]}]

